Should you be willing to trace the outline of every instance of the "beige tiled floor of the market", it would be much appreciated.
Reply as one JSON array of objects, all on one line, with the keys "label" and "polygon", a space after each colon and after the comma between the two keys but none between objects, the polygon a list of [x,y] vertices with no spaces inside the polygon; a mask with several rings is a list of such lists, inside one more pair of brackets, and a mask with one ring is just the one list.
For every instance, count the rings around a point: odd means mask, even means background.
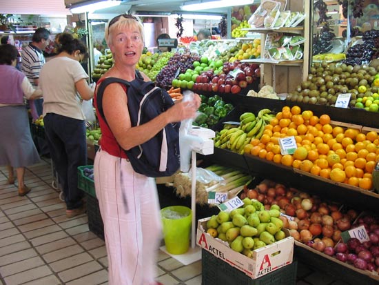
[{"label": "beige tiled floor of the market", "polygon": [[[32,191],[25,197],[6,184],[6,175],[0,167],[1,284],[107,284],[105,244],[88,229],[87,215],[65,217],[65,204],[52,188],[50,160],[26,170]],[[157,267],[156,279],[165,285],[201,284],[201,261],[183,266],[159,250]],[[299,263],[297,284],[344,283]]]}]

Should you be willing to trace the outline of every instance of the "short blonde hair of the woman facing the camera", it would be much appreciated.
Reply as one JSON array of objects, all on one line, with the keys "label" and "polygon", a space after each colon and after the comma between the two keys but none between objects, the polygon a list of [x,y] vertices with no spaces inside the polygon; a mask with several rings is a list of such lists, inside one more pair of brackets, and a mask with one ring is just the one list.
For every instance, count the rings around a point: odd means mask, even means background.
[{"label": "short blonde hair of the woman facing the camera", "polygon": [[137,27],[141,34],[142,42],[145,43],[145,33],[143,31],[143,24],[139,17],[133,16],[131,14],[120,14],[119,16],[114,17],[107,23],[105,28],[105,41],[107,45],[112,45],[112,32],[117,29],[122,28],[134,28]]}]

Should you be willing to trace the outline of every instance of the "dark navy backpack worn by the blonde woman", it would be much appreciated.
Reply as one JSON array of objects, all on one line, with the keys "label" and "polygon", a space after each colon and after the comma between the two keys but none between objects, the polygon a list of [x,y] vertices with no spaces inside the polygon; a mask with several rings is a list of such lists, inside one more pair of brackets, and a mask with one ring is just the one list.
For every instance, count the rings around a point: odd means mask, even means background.
[{"label": "dark navy backpack worn by the blonde woman", "polygon": [[[101,81],[97,90],[97,108],[103,117],[103,92],[110,83],[122,83],[127,88],[127,108],[129,109],[132,126],[145,124],[174,105],[174,101],[166,90],[158,88],[152,81],[145,82],[137,71],[136,79],[126,81],[116,77],[108,77]],[[124,150],[136,173],[147,177],[165,177],[173,175],[180,167],[179,155],[180,123],[167,124],[152,139]]]}]

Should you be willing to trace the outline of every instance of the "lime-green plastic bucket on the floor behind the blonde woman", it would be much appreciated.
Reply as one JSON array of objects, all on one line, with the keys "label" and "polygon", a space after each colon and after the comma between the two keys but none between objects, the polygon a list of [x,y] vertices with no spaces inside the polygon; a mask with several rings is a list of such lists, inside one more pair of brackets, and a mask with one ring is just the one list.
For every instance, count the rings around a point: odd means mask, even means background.
[{"label": "lime-green plastic bucket on the floor behind the blonde woman", "polygon": [[186,253],[191,236],[192,210],[185,206],[161,209],[166,250],[173,255]]}]

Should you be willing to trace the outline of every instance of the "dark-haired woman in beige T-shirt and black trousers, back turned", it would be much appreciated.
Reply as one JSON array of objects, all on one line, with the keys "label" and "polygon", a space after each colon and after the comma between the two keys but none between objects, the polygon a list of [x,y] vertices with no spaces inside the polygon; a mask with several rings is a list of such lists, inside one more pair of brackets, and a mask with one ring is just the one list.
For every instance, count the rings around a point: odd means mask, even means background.
[{"label": "dark-haired woman in beige T-shirt and black trousers, back turned", "polygon": [[94,95],[80,63],[86,54],[87,49],[79,39],[63,32],[59,37],[59,55],[45,63],[39,75],[44,95],[45,135],[63,188],[68,218],[85,213],[83,194],[77,188],[77,168],[87,164],[81,101]]}]

